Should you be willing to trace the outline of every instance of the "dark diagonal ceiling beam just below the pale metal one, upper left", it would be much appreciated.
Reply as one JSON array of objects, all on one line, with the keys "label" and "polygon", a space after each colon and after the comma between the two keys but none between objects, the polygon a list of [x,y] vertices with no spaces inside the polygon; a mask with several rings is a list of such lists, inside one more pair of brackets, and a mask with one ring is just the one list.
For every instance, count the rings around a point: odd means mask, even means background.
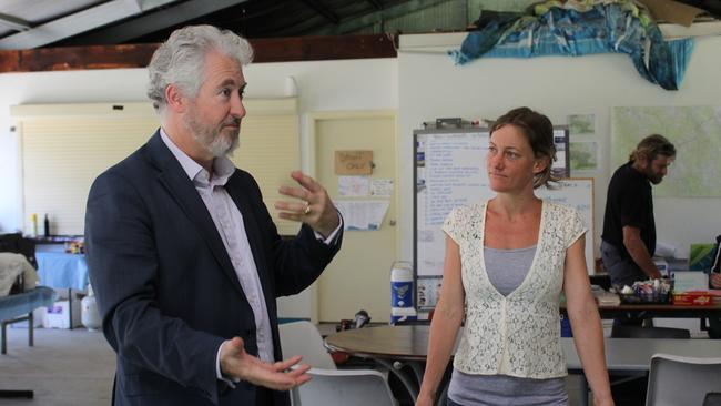
[{"label": "dark diagonal ceiling beam just below the pale metal one, upper left", "polygon": [[187,0],[113,27],[97,30],[78,40],[68,41],[72,45],[113,44],[132,41],[149,33],[182,24],[185,21],[210,14],[248,0]]}]

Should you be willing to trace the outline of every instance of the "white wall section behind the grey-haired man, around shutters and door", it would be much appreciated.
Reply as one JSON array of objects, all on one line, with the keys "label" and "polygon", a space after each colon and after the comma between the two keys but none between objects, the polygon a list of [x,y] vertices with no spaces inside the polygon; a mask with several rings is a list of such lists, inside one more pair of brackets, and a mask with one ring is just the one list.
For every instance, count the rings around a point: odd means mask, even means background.
[{"label": "white wall section behind the grey-haired man, around shutters and door", "polygon": [[[305,145],[309,112],[396,109],[396,65],[395,59],[251,64],[245,69],[246,95],[288,95],[286,77],[294,77]],[[17,133],[10,131],[10,105],[144,101],[145,82],[144,69],[0,74],[0,232],[21,230],[28,222],[22,219],[19,144]],[[305,149],[302,153],[303,170],[307,171],[308,154]],[[309,317],[312,296],[306,293],[280,301],[281,315]]]}]

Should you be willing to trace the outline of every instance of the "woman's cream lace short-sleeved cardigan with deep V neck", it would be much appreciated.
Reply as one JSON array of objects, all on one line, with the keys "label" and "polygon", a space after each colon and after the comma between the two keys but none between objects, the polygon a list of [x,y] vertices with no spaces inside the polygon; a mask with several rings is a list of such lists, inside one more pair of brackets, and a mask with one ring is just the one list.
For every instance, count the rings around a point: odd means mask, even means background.
[{"label": "woman's cream lace short-sleeved cardigan with deep V neck", "polygon": [[586,233],[578,212],[544,201],[530,270],[508,296],[490,283],[484,260],[487,204],[454,209],[443,226],[460,247],[466,325],[454,367],[466,374],[526,378],[567,375],[559,295],[566,248]]}]

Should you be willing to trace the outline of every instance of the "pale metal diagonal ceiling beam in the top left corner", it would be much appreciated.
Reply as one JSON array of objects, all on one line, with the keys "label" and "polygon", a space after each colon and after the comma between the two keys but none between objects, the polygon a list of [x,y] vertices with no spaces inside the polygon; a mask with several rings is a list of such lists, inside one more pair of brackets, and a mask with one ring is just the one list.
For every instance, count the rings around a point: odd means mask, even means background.
[{"label": "pale metal diagonal ceiling beam in the top left corner", "polygon": [[112,0],[0,39],[0,49],[32,49],[177,0]]}]

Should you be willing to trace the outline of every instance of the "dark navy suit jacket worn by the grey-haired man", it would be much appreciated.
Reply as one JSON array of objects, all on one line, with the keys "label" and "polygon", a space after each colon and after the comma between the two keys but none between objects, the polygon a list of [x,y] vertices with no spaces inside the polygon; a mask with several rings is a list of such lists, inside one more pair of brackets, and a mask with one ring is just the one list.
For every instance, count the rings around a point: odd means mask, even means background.
[{"label": "dark navy suit jacket worn by the grey-haired man", "polygon": [[[281,240],[255,180],[241,170],[225,189],[241,213],[282,359],[275,298],[315,281],[341,246],[303,225]],[[221,343],[257,355],[255,319],[201,196],[160,133],[93,183],[87,260],[103,333],[118,354],[114,405],[254,405],[256,387],[216,379]],[[273,393],[275,405],[287,393]]]}]

